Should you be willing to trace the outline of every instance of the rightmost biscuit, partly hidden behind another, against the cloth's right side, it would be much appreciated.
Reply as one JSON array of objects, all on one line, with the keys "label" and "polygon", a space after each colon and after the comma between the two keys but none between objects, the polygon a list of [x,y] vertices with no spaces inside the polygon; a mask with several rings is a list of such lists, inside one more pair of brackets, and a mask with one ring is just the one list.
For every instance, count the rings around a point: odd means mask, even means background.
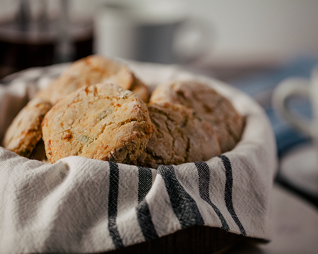
[{"label": "rightmost biscuit, partly hidden behind another, against the cloth's right side", "polygon": [[192,108],[208,121],[220,141],[222,152],[232,150],[240,140],[244,118],[232,103],[210,86],[198,81],[171,81],[153,91],[149,103],[169,102]]}]

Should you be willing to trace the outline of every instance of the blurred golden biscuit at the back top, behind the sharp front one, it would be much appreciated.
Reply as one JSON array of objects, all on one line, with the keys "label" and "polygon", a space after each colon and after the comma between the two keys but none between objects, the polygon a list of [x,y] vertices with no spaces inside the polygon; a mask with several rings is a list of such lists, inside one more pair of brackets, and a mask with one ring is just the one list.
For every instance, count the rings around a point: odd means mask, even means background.
[{"label": "blurred golden biscuit at the back top, behind the sharp front one", "polygon": [[142,83],[140,80],[136,80],[127,65],[100,55],[91,55],[70,64],[57,79],[38,91],[35,97],[50,101],[54,105],[61,98],[82,86],[105,81],[128,90],[133,89],[136,83]]}]

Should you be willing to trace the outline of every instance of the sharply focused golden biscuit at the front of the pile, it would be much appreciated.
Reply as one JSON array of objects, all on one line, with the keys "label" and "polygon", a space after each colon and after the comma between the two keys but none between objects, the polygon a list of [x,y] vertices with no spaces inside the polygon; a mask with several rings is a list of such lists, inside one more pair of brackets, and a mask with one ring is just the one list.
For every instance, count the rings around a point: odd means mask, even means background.
[{"label": "sharply focused golden biscuit at the front of the pile", "polygon": [[132,164],[153,132],[147,106],[112,83],[79,88],[55,104],[42,122],[47,158],[67,156]]}]

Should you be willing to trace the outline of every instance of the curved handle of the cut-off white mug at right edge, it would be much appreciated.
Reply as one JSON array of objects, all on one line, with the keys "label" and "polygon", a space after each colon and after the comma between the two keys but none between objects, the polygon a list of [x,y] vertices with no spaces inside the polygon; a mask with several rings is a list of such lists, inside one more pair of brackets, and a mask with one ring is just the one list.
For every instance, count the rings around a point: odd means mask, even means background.
[{"label": "curved handle of the cut-off white mug at right edge", "polygon": [[272,95],[272,106],[276,112],[281,114],[295,128],[312,134],[312,124],[309,119],[292,113],[288,108],[288,99],[292,96],[309,97],[309,80],[306,78],[288,78],[277,85]]}]

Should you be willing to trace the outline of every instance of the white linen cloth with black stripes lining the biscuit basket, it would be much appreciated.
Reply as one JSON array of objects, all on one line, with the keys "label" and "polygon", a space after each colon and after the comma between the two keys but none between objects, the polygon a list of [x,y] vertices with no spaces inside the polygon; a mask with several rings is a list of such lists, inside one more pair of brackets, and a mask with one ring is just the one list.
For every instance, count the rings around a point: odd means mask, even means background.
[{"label": "white linen cloth with black stripes lining the biscuit basket", "polygon": [[[270,240],[276,142],[263,109],[218,80],[176,65],[127,62],[154,88],[195,78],[228,97],[246,117],[238,145],[206,162],[157,170],[79,156],[54,164],[0,147],[0,253],[115,250],[192,225]],[[19,72],[0,87],[0,138],[34,91],[67,64]]]}]

